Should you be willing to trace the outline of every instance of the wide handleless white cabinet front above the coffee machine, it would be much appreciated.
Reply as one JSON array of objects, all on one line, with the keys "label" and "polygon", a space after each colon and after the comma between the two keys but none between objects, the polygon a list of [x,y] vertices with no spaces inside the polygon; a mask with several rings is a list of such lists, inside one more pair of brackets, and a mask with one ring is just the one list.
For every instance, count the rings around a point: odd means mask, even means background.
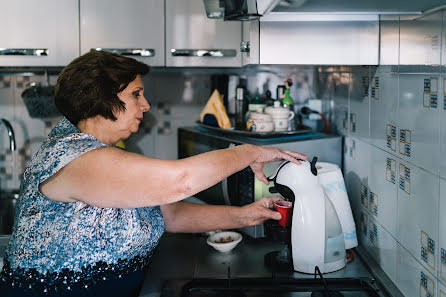
[{"label": "wide handleless white cabinet front above the coffee machine", "polygon": [[244,65],[378,64],[376,15],[287,17],[271,13],[260,18],[257,25],[254,21],[245,23],[243,41],[250,39],[250,55],[249,59],[243,55]]}]

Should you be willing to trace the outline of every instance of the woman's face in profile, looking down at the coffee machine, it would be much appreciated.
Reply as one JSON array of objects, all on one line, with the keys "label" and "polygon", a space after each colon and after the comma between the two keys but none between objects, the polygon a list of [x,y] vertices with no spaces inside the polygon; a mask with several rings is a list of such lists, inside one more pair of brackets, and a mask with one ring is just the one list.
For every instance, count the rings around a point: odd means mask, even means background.
[{"label": "woman's face in profile, looking down at the coffee machine", "polygon": [[117,120],[114,124],[120,138],[125,139],[131,133],[138,131],[143,114],[150,109],[150,105],[144,97],[144,85],[140,75],[137,75],[135,80],[117,95],[125,103],[125,110],[115,115]]}]

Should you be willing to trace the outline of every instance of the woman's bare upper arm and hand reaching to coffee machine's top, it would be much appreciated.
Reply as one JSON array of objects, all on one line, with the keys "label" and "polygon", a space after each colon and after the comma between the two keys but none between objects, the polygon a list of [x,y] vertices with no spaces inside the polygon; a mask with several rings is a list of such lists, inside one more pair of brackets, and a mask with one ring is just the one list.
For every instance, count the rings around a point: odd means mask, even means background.
[{"label": "woman's bare upper arm and hand reaching to coffee machine's top", "polygon": [[240,145],[180,160],[163,160],[107,147],[87,152],[40,185],[48,198],[97,207],[163,205],[190,197],[250,166],[266,182],[263,165],[305,156]]}]

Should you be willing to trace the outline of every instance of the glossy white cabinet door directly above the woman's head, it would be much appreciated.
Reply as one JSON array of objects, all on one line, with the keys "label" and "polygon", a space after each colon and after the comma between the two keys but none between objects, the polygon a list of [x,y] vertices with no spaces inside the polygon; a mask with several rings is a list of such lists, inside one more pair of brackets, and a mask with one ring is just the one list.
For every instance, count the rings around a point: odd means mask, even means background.
[{"label": "glossy white cabinet door directly above the woman's head", "polygon": [[81,53],[101,48],[164,66],[164,1],[80,0]]}]

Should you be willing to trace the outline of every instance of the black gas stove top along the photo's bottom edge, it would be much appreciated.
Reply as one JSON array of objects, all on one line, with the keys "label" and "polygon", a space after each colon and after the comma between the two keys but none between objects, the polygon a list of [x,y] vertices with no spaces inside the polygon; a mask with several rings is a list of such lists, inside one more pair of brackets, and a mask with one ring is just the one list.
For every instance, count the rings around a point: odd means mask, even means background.
[{"label": "black gas stove top along the photo's bottom edge", "polygon": [[327,279],[193,279],[170,280],[161,296],[182,297],[379,297],[379,290],[368,278]]}]

